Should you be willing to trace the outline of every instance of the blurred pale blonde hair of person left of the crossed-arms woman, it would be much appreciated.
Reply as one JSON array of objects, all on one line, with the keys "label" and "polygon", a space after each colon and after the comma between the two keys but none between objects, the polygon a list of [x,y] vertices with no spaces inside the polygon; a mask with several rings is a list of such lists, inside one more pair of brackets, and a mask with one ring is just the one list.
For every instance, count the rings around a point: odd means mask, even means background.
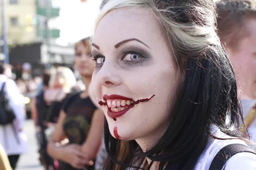
[{"label": "blurred pale blonde hair of person left of the crossed-arms woman", "polygon": [[49,80],[49,87],[55,88],[56,85],[59,84],[61,84],[63,89],[67,92],[70,92],[71,88],[76,85],[76,77],[70,68],[58,67],[52,72]]}]

